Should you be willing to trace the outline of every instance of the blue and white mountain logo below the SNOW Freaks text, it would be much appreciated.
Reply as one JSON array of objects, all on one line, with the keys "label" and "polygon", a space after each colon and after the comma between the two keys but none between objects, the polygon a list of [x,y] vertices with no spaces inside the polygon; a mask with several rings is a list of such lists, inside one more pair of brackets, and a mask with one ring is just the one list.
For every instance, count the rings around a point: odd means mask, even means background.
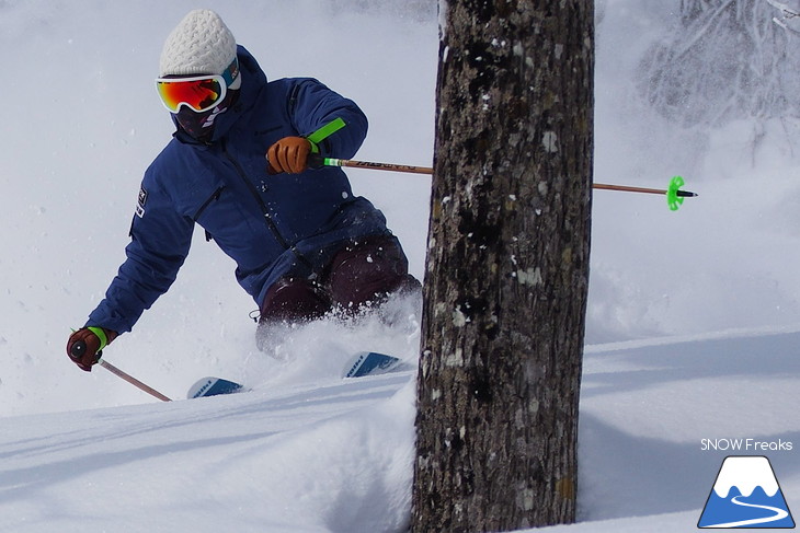
[{"label": "blue and white mountain logo below the SNOW Freaks text", "polygon": [[769,460],[755,455],[725,457],[697,526],[795,528]]}]

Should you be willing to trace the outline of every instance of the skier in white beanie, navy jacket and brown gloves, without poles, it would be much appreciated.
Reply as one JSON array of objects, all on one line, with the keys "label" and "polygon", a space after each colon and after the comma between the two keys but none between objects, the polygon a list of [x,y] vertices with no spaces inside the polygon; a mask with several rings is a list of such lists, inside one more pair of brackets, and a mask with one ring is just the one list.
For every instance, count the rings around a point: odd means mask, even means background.
[{"label": "skier in white beanie, navy jacket and brown gloves, without poles", "polygon": [[127,259],[69,337],[78,367],[91,371],[169,289],[195,223],[236,260],[259,304],[261,349],[281,325],[419,291],[384,215],[353,196],[341,169],[309,165],[312,154],[358,150],[367,119],[354,102],[310,78],[267,82],[209,10],[191,11],[169,35],[157,88],[176,131],[145,172]]}]

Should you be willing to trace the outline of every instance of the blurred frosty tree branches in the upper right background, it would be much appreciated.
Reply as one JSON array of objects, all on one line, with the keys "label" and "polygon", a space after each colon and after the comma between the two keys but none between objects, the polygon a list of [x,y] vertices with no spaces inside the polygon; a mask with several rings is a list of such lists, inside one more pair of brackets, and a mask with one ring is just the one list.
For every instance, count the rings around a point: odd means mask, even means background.
[{"label": "blurred frosty tree branches in the upper right background", "polygon": [[682,0],[676,27],[641,63],[643,96],[683,126],[800,117],[797,13],[786,8],[775,0]]}]

